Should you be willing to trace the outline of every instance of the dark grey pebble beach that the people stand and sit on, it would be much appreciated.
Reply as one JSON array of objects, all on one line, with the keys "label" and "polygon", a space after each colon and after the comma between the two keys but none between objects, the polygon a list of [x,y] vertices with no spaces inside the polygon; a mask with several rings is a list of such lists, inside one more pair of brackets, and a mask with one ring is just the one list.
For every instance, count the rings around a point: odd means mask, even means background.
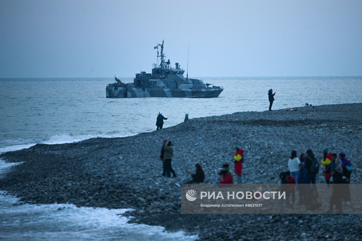
[{"label": "dark grey pebble beach that the people stand and sit on", "polygon": [[[324,237],[323,230],[312,231],[308,225],[323,227],[336,218],[334,215],[181,215],[180,189],[174,183],[189,179],[187,173],[196,162],[204,169],[205,182],[210,183],[224,162],[232,164],[233,144],[245,150],[243,181],[247,183],[277,182],[278,174],[287,168],[292,149],[299,155],[311,148],[320,158],[325,147],[332,152],[345,150],[353,164],[351,182],[361,183],[361,107],[362,103],[351,103],[298,107],[291,112],[237,112],[194,118],[160,131],[122,138],[36,144],[0,155],[10,162],[26,161],[0,180],[0,190],[29,203],[134,208],[136,211],[126,214],[135,217],[131,222],[198,233],[201,239],[222,239],[225,235],[256,239],[270,234],[295,239],[301,232],[308,239]],[[163,139],[174,144],[172,165],[177,178],[160,175],[158,156]],[[324,183],[321,174],[317,182]],[[351,225],[352,231],[340,230],[337,224],[336,231],[351,240],[358,237],[355,223],[356,219],[362,220],[362,215],[342,215],[338,219]],[[273,224],[276,222],[281,225]],[[285,230],[282,224],[286,222],[299,224],[301,229],[293,232],[290,226]],[[248,230],[249,225],[253,230]],[[320,234],[313,236],[315,232]]]}]

